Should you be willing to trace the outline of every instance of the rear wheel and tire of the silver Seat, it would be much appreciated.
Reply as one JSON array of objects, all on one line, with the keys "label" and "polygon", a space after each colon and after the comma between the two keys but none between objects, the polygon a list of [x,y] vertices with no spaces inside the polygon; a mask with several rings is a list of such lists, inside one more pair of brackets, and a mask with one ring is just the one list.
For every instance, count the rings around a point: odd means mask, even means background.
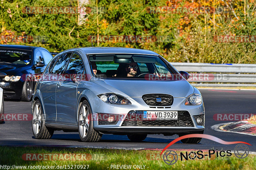
[{"label": "rear wheel and tire of the silver Seat", "polygon": [[50,139],[54,132],[52,128],[45,126],[43,108],[38,99],[33,106],[32,131],[36,139]]}]

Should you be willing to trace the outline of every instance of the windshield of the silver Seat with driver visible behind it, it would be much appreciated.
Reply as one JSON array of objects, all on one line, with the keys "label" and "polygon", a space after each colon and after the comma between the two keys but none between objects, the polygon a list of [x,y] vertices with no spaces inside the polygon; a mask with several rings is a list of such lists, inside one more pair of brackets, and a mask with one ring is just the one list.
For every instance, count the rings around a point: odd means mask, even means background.
[{"label": "windshield of the silver Seat with driver visible behind it", "polygon": [[178,74],[160,57],[154,55],[90,54],[88,57],[94,76],[101,79],[153,78],[153,80],[157,80],[162,77],[174,77],[175,74]]}]

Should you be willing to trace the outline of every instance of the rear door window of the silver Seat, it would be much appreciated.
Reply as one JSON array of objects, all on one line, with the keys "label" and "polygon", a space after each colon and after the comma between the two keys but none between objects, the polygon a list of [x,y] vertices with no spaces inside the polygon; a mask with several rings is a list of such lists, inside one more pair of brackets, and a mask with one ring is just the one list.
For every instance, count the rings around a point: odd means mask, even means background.
[{"label": "rear door window of the silver Seat", "polygon": [[55,66],[52,69],[53,74],[62,74],[70,57],[71,53],[62,54],[56,61]]}]

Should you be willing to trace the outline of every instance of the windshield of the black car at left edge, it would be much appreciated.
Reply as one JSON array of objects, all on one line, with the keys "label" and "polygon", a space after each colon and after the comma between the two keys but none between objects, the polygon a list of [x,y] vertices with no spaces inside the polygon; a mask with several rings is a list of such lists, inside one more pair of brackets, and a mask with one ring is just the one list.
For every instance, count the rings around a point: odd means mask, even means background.
[{"label": "windshield of the black car at left edge", "polygon": [[32,51],[0,48],[0,63],[28,65],[31,63]]}]

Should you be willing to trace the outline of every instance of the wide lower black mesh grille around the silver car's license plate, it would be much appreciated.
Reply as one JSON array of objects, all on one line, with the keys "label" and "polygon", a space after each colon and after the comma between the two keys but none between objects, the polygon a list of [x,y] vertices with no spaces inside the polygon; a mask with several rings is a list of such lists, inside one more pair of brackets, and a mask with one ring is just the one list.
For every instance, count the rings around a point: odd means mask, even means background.
[{"label": "wide lower black mesh grille around the silver car's license plate", "polygon": [[143,120],[143,111],[136,111],[135,115],[127,115],[121,126],[172,126],[194,127],[188,111],[178,111],[178,120]]}]

